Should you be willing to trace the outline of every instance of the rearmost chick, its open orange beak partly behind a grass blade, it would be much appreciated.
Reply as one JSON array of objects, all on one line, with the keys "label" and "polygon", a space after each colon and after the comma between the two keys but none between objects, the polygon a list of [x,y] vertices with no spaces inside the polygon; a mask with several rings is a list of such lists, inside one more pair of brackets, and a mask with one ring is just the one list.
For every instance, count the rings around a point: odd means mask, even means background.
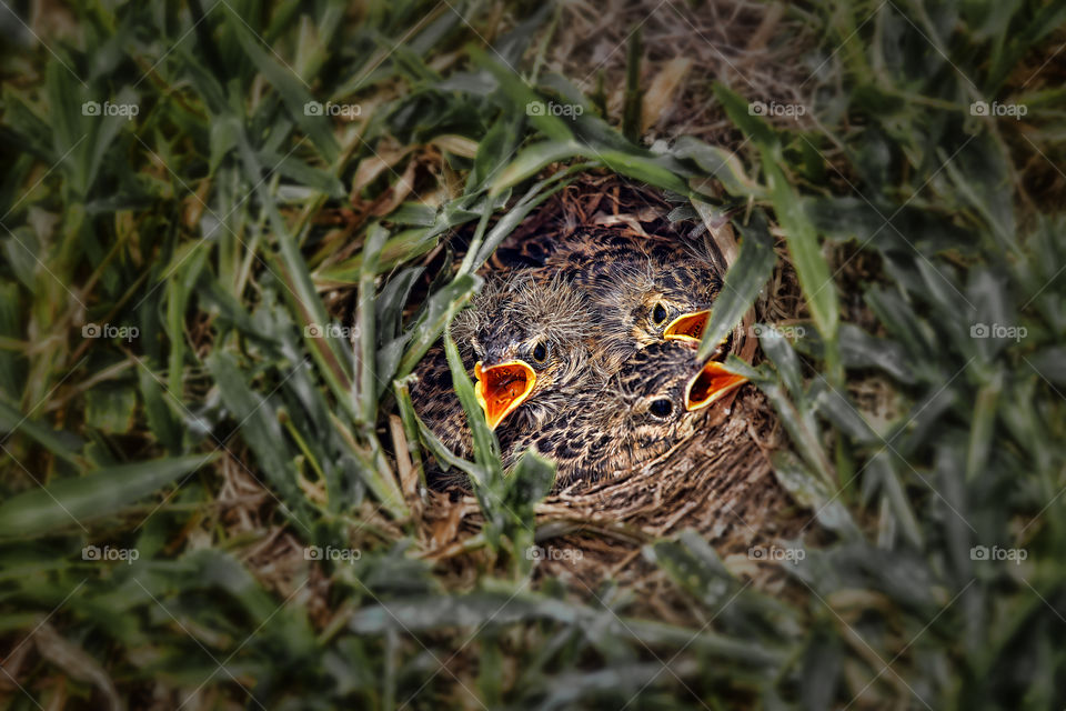
[{"label": "rearmost chick, its open orange beak partly behind a grass blade", "polygon": [[[596,312],[596,356],[615,372],[652,343],[698,343],[722,290],[716,261],[690,240],[591,228],[559,244],[543,273],[570,274]],[[728,350],[728,343],[722,351]]]}]

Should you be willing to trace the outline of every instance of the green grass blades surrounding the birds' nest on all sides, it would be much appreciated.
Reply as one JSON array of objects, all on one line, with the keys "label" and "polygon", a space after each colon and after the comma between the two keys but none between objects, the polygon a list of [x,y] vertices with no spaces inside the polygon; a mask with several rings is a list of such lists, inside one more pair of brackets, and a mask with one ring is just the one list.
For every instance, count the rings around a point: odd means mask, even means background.
[{"label": "green grass blades surrounding the birds' nest on all sides", "polygon": [[[565,28],[523,8],[501,32],[503,6],[476,3],[88,3],[72,36],[8,51],[6,707],[1062,708],[1063,144],[1042,71],[1063,3],[794,9],[824,38],[817,120],[717,84],[736,154],[641,146],[635,100],[626,138],[537,71]],[[549,101],[583,111],[530,110]],[[782,565],[797,593],[693,531],[644,550],[691,623],[535,580],[551,467],[504,477],[483,427],[454,463],[485,562],[456,587],[423,558],[406,378],[495,247],[589,168],[701,209],[715,178],[745,207],[708,343],[783,239],[806,337],[763,329],[765,362],[731,367],[827,532]],[[856,254],[877,264],[857,286]]]}]

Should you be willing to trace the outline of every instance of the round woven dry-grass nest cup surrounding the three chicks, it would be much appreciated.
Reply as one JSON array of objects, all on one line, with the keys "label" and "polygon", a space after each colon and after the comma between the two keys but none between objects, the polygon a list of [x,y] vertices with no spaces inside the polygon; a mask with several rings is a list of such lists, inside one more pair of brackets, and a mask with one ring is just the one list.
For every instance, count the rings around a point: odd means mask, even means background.
[{"label": "round woven dry-grass nest cup surrounding the three chicks", "polygon": [[[515,247],[532,234],[565,239],[587,226],[613,226],[636,234],[690,238],[703,233],[722,256],[723,271],[736,258],[728,222],[672,222],[676,204],[663,196],[609,174],[589,174],[554,196],[509,238]],[[741,217],[740,219],[743,219]],[[459,236],[459,241],[461,241]],[[734,332],[732,350],[757,362],[757,339],[750,337],[756,320],[780,322],[798,303],[798,287],[786,262],[774,282]],[[492,263],[486,276],[495,270]],[[580,580],[591,589],[606,577],[642,578],[641,551],[657,538],[693,529],[708,540],[726,563],[752,569],[752,545],[791,538],[807,519],[781,488],[768,453],[783,440],[765,398],[752,385],[710,408],[697,434],[665,455],[609,481],[576,481],[536,508],[537,543],[543,574]],[[467,541],[483,524],[476,499],[469,492],[426,492],[420,507],[419,533],[426,558],[442,565],[465,568]],[[743,572],[740,570],[738,572]]]}]

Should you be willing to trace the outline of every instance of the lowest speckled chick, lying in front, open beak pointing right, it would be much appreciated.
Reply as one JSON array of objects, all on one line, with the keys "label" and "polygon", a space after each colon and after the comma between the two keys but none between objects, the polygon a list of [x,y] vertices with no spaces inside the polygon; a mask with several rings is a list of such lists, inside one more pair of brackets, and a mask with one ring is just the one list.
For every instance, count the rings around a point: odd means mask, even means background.
[{"label": "lowest speckled chick, lying in front, open beak pointing right", "polygon": [[505,463],[532,448],[555,460],[556,485],[617,477],[692,437],[705,409],[744,382],[717,361],[701,365],[684,344],[652,343],[603,388],[573,393],[569,409],[515,438]]}]

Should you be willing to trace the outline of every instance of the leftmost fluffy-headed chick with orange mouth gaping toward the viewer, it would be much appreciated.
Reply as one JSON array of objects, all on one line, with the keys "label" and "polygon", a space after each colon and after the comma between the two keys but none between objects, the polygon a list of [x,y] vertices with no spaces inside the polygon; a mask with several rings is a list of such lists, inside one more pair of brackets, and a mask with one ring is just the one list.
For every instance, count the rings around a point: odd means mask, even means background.
[{"label": "leftmost fluffy-headed chick with orange mouth gaping toward the viewer", "polygon": [[[589,369],[592,313],[581,292],[563,278],[539,283],[529,272],[486,280],[451,333],[489,427],[507,447],[566,407],[560,392],[580,387]],[[471,453],[465,414],[452,387],[442,347],[416,370],[411,389],[415,410],[453,452]]]}]

